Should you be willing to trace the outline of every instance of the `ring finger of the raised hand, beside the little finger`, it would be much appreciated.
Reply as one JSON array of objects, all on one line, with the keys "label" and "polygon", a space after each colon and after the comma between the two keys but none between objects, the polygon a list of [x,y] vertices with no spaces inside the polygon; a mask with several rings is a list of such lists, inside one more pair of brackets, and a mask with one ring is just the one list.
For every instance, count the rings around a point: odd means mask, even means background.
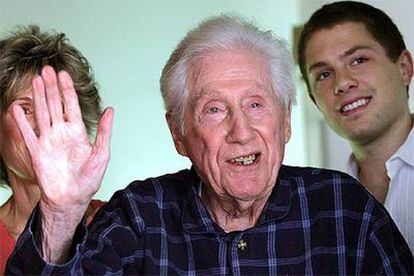
[{"label": "ring finger of the raised hand, beside the little finger", "polygon": [[39,133],[45,134],[50,129],[50,117],[42,77],[36,76],[32,79],[32,88],[36,123],[39,127]]}]

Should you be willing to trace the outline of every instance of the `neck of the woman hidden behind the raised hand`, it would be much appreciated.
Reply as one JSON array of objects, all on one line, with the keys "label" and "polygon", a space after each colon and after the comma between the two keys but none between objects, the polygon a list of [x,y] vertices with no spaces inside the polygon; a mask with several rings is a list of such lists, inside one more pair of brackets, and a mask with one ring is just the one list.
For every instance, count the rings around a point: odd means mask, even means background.
[{"label": "neck of the woman hidden behind the raised hand", "polygon": [[35,183],[19,179],[10,172],[8,175],[12,196],[0,207],[0,218],[9,234],[17,239],[40,199],[40,191]]}]

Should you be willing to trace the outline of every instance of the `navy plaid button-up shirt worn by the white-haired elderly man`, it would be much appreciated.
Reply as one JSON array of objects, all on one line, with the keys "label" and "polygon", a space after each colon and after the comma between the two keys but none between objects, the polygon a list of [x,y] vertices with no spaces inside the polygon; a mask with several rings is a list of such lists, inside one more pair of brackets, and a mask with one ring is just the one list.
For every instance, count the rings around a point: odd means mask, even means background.
[{"label": "navy plaid button-up shirt worn by the white-haired elderly man", "polygon": [[11,274],[413,274],[413,256],[385,209],[346,174],[282,166],[255,227],[225,233],[193,170],[136,181],[115,193],[66,264],[39,256],[38,211]]}]

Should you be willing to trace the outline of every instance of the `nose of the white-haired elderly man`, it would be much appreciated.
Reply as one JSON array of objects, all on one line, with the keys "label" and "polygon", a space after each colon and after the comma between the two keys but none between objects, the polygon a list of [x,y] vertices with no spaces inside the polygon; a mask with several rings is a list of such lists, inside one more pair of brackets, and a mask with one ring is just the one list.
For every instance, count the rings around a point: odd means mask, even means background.
[{"label": "nose of the white-haired elderly man", "polygon": [[247,144],[254,137],[251,122],[242,111],[234,112],[229,120],[228,143]]}]

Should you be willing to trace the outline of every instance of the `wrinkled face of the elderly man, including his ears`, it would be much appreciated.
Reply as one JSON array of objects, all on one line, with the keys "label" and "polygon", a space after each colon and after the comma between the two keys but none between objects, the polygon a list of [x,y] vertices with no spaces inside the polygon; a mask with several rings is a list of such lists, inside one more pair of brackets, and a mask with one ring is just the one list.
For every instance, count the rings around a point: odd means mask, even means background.
[{"label": "wrinkled face of the elderly man, including his ears", "polygon": [[191,72],[177,150],[217,196],[268,196],[290,137],[290,110],[276,99],[266,61],[247,51],[215,51]]}]

